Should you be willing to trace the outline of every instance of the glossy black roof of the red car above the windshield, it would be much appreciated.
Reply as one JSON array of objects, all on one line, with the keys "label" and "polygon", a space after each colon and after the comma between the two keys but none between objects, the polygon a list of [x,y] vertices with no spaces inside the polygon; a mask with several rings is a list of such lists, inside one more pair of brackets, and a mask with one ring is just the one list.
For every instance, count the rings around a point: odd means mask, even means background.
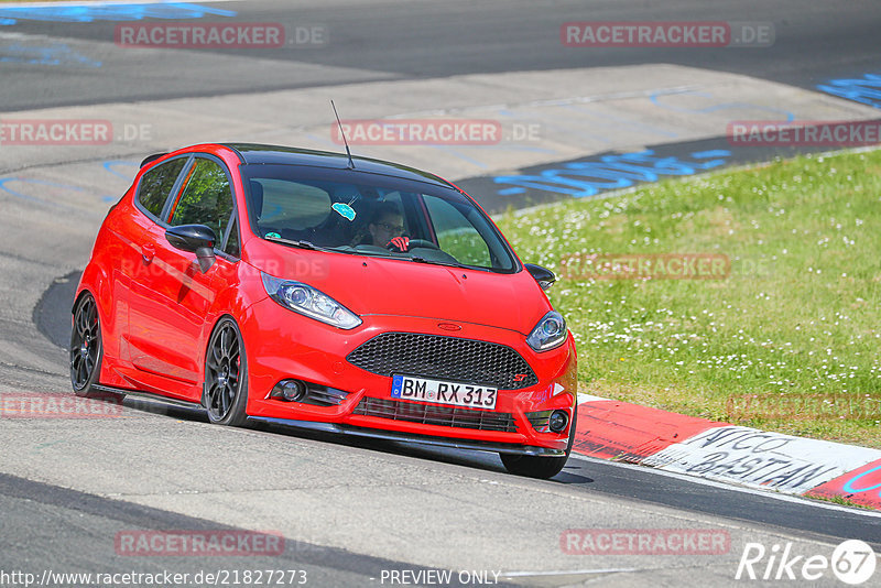
[{"label": "glossy black roof of the red car above the windshield", "polygon": [[[306,167],[328,167],[334,170],[348,170],[349,157],[345,153],[331,153],[309,149],[263,145],[259,143],[221,143],[222,146],[235,151],[246,165],[252,164],[283,164],[303,165]],[[428,172],[407,167],[398,163],[370,157],[352,156],[355,171],[361,173],[388,175],[416,182],[425,182],[437,186],[456,189],[456,186],[446,179]],[[458,189],[457,189],[458,192]]]}]

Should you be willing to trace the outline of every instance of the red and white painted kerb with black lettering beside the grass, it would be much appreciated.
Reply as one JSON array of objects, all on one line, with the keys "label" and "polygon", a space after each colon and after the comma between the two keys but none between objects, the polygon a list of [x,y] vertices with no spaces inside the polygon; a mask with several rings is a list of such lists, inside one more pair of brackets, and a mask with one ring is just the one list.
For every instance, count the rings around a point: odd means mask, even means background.
[{"label": "red and white painted kerb with black lettering beside the grass", "polygon": [[[576,453],[748,488],[839,497],[873,508],[879,504],[879,449],[706,421],[587,394],[578,394],[578,412],[581,427],[576,433]],[[595,424],[599,418],[620,426],[591,428],[591,418]],[[646,451],[646,447],[651,449]],[[873,468],[874,464],[879,466]]]}]

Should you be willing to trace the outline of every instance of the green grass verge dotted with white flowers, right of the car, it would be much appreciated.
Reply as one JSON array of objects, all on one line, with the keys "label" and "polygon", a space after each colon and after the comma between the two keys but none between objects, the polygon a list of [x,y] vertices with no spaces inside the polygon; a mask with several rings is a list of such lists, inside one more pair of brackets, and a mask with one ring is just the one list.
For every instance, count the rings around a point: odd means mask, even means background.
[{"label": "green grass verge dotted with white flowers, right of the car", "polygon": [[[562,277],[579,390],[881,448],[881,151],[569,200],[499,220],[521,259],[716,253],[722,280]],[[583,274],[584,275],[584,274]]]}]

